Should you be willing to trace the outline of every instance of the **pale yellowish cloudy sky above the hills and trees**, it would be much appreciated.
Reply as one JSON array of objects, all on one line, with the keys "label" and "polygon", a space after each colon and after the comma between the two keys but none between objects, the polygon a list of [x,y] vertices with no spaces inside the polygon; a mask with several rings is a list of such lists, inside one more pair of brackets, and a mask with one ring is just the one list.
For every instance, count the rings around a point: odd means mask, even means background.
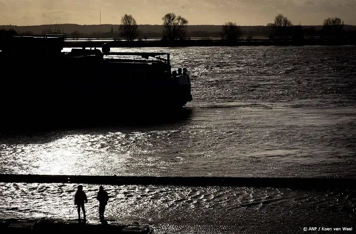
[{"label": "pale yellowish cloudy sky above the hills and trees", "polygon": [[190,25],[266,25],[280,13],[293,24],[339,17],[356,25],[356,0],[0,0],[0,25],[100,24],[100,14],[102,24],[120,24],[124,14],[137,24],[162,24],[170,12]]}]

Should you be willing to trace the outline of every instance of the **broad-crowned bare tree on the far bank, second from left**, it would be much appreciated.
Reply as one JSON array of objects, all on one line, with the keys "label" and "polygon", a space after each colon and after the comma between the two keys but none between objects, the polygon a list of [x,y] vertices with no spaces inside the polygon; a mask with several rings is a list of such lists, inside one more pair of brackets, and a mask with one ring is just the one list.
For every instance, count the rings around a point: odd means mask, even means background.
[{"label": "broad-crowned bare tree on the far bank, second from left", "polygon": [[188,20],[175,13],[167,13],[162,17],[163,38],[175,40],[186,36]]}]

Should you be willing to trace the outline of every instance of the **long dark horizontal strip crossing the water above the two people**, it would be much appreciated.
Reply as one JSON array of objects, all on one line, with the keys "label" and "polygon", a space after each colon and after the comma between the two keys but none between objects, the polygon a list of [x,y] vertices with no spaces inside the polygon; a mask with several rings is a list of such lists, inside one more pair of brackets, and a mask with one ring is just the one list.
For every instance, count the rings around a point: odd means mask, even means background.
[{"label": "long dark horizontal strip crossing the water above the two people", "polygon": [[149,177],[0,174],[0,182],[103,185],[232,186],[302,189],[356,188],[356,179],[353,178]]}]

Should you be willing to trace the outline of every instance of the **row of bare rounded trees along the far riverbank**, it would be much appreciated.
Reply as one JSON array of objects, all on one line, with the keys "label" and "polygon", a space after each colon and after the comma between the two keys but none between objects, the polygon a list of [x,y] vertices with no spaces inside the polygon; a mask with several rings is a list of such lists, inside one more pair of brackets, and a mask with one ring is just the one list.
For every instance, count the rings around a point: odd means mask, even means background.
[{"label": "row of bare rounded trees along the far riverbank", "polygon": [[[162,40],[177,40],[187,39],[186,28],[188,20],[175,13],[167,13],[162,17],[163,30]],[[323,21],[322,29],[319,32],[313,31],[313,28],[303,29],[300,24],[293,25],[290,19],[283,14],[278,14],[274,18],[273,23],[266,25],[269,29],[269,38],[272,40],[301,40],[305,36],[319,36],[328,38],[342,38],[347,35],[343,30],[344,21],[338,17],[329,17]],[[121,18],[119,27],[119,35],[127,41],[132,41],[137,38],[138,29],[136,20],[132,15],[125,14]],[[236,22],[226,22],[219,36],[227,41],[237,41],[241,36],[240,26]],[[353,32],[355,37],[355,31]]]}]

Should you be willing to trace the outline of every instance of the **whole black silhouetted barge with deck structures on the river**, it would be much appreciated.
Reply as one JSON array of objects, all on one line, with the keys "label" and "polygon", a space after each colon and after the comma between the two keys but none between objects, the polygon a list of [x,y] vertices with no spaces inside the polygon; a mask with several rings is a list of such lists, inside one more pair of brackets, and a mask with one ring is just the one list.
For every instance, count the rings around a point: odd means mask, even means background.
[{"label": "whole black silhouetted barge with deck structures on the river", "polygon": [[2,40],[1,125],[145,116],[192,101],[187,69],[171,71],[169,53],[63,47],[60,35]]}]

